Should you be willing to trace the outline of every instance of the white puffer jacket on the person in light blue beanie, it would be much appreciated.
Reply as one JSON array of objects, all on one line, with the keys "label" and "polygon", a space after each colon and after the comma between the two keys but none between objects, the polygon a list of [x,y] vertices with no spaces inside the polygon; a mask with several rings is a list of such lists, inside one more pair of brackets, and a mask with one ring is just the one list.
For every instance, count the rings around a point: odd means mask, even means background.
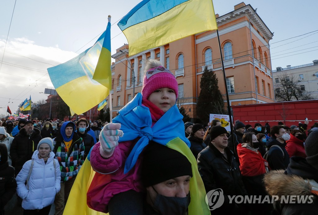
[{"label": "white puffer jacket on the person in light blue beanie", "polygon": [[[32,160],[27,161],[20,173],[17,175],[17,194],[23,199],[22,207],[25,210],[42,209],[54,202],[55,194],[61,189],[61,171],[59,162],[55,159],[54,173],[54,153],[50,152],[50,158],[46,164],[44,159],[38,158],[39,151],[34,151]],[[33,168],[28,182],[29,189],[24,184],[28,178],[31,163]]]}]

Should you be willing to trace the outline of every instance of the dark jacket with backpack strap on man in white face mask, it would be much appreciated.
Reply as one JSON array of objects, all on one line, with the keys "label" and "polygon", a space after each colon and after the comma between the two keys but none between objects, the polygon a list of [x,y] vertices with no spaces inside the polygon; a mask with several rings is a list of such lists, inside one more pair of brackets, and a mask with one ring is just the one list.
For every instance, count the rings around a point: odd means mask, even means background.
[{"label": "dark jacket with backpack strap on man in white face mask", "polygon": [[[281,150],[275,146],[270,148],[272,145],[279,145]],[[286,170],[289,164],[289,155],[285,149],[285,145],[286,142],[282,144],[272,137],[266,142],[267,149],[269,150],[267,161],[271,170]],[[284,155],[282,151],[284,152]]]}]

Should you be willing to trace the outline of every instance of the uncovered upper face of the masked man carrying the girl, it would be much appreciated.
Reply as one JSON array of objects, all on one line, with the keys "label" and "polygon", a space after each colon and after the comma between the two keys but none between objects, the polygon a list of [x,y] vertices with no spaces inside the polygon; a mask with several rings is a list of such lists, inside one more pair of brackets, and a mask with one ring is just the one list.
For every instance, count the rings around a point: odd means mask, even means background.
[{"label": "uncovered upper face of the masked man carrying the girl", "polygon": [[[170,180],[161,182],[159,184],[153,185],[156,191],[166,197],[186,197],[189,194],[191,176],[185,175],[177,178],[172,178]],[[147,187],[147,198],[150,198],[149,202],[155,202],[157,197],[156,191],[150,186]]]}]

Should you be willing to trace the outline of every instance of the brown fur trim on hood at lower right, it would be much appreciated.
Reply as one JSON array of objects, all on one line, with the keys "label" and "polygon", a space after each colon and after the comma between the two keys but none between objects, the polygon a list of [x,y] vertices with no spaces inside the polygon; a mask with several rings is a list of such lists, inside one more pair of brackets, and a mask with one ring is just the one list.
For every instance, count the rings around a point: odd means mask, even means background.
[{"label": "brown fur trim on hood at lower right", "polygon": [[[286,175],[284,170],[273,170],[264,177],[266,191],[271,196],[310,196],[318,191],[318,183],[297,175]],[[317,194],[316,194],[317,195]]]}]

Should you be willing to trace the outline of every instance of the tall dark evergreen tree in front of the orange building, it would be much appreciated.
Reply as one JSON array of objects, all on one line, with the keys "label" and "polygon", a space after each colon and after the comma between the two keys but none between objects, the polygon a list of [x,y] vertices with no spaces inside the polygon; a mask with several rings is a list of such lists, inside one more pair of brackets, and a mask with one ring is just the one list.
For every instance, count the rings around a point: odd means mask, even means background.
[{"label": "tall dark evergreen tree in front of the orange building", "polygon": [[223,114],[224,100],[221,91],[218,89],[218,78],[213,71],[209,71],[207,67],[200,81],[200,95],[197,102],[197,117],[207,124],[210,114]]}]

